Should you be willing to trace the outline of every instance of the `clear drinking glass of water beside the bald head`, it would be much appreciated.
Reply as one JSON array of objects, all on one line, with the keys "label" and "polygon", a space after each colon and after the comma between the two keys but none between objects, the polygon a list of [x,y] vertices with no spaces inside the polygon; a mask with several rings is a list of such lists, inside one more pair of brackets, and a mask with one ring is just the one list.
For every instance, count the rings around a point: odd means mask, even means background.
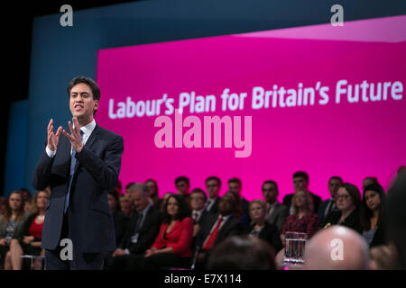
[{"label": "clear drinking glass of water beside the bald head", "polygon": [[304,264],[303,254],[308,234],[300,232],[285,233],[285,253],[283,261],[285,264]]}]

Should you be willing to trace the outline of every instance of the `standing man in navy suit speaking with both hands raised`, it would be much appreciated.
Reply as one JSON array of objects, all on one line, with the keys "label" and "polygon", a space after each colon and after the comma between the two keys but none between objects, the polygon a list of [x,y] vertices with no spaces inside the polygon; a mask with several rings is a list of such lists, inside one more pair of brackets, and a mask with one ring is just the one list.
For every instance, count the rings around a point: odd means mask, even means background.
[{"label": "standing man in navy suit speaking with both hands raised", "polygon": [[[70,133],[62,127],[54,133],[51,119],[46,146],[32,175],[35,189],[51,185],[42,230],[45,268],[102,269],[103,253],[115,250],[107,191],[117,184],[124,142],[94,119],[100,100],[95,81],[75,77],[68,93]],[[70,241],[61,241],[65,238]]]}]

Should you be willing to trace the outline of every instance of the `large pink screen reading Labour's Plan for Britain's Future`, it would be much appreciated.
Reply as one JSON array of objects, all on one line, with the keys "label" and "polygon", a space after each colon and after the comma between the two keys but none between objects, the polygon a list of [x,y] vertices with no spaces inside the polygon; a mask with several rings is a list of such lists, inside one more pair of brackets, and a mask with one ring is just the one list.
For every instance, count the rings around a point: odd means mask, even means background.
[{"label": "large pink screen reading Labour's Plan for Britain's Future", "polygon": [[[405,25],[398,16],[100,50],[97,123],[124,137],[120,180],[156,179],[162,195],[177,176],[193,189],[217,175],[223,194],[236,176],[247,200],[274,180],[281,201],[304,170],[323,199],[332,175],[359,188],[377,176],[387,189],[406,162]],[[221,134],[206,129],[214,116],[229,121]]]}]

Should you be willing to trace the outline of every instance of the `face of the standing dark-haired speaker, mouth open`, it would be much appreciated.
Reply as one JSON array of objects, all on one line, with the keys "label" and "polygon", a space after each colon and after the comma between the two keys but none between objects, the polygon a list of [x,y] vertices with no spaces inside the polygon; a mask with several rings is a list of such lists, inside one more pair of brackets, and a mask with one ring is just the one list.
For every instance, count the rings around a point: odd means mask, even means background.
[{"label": "face of the standing dark-haired speaker, mouth open", "polygon": [[72,116],[78,117],[78,121],[92,121],[97,108],[98,101],[93,99],[89,85],[79,83],[72,87],[69,95],[69,109]]}]

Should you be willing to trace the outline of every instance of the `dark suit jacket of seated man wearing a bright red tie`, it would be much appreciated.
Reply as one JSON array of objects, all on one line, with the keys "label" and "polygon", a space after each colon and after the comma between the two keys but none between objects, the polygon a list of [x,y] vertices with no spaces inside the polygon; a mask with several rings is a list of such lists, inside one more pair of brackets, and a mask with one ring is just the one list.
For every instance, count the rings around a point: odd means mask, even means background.
[{"label": "dark suit jacket of seated man wearing a bright red tie", "polygon": [[[207,217],[202,220],[200,229],[198,230],[198,235],[196,236],[196,242],[194,244],[193,250],[196,251],[197,248],[201,250],[205,240],[210,234],[210,230],[212,229],[213,225],[216,224],[217,219],[218,214],[208,214]],[[216,247],[218,243],[229,236],[241,235],[242,233],[244,233],[244,226],[241,224],[240,220],[235,219],[235,217],[231,215],[223,224],[221,229],[218,230],[216,240],[213,243],[213,247]]]}]

